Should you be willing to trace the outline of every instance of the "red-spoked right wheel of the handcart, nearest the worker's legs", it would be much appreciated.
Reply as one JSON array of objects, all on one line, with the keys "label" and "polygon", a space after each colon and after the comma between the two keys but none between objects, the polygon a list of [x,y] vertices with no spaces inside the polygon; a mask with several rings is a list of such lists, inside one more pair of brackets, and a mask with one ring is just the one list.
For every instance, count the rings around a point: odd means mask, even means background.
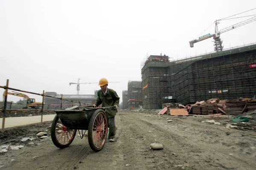
[{"label": "red-spoked right wheel of the handcart, nearest the worker's legs", "polygon": [[95,152],[102,150],[108,133],[108,118],[102,109],[97,109],[90,118],[88,142]]}]

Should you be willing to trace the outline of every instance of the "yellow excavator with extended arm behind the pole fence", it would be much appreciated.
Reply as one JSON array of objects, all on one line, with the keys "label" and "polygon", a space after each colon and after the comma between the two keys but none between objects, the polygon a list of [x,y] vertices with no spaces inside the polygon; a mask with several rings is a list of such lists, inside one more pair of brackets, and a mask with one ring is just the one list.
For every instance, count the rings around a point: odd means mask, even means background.
[{"label": "yellow excavator with extended arm behind the pole fence", "polygon": [[[23,109],[40,109],[42,107],[42,102],[35,102],[35,99],[29,98],[29,96],[27,96],[26,94],[18,93],[15,91],[7,92],[7,94],[23,97],[24,99],[26,99],[26,104],[25,104],[26,107],[24,107]],[[6,91],[3,92],[3,99],[5,99],[5,96],[6,96]]]}]

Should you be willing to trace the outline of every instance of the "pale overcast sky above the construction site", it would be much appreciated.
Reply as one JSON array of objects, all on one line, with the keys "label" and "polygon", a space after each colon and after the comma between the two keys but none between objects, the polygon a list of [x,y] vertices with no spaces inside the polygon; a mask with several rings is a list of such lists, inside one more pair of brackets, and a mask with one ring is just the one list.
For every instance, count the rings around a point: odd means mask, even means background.
[{"label": "pale overcast sky above the construction site", "polygon": [[[0,0],[0,85],[9,79],[11,88],[76,94],[69,82],[105,77],[120,82],[108,87],[122,97],[129,80],[141,79],[147,53],[177,59],[213,51],[213,39],[194,48],[189,41],[214,33],[215,20],[252,8],[254,0]],[[248,18],[223,20],[218,28]],[[253,22],[221,34],[224,48],[255,42],[255,28]],[[97,84],[80,85],[80,94],[94,90]]]}]

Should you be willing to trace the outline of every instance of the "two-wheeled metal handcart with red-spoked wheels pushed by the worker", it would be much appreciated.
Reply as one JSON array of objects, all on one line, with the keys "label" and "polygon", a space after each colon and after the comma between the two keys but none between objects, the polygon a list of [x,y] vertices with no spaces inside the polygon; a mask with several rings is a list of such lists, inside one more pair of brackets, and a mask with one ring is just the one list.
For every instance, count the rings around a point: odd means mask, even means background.
[{"label": "two-wheeled metal handcart with red-spoked wheels pushed by the worker", "polygon": [[91,149],[95,152],[102,150],[108,134],[108,117],[105,111],[113,107],[93,108],[91,105],[55,110],[56,116],[51,127],[52,142],[59,148],[68,147],[73,142],[77,130],[81,139],[88,130]]}]

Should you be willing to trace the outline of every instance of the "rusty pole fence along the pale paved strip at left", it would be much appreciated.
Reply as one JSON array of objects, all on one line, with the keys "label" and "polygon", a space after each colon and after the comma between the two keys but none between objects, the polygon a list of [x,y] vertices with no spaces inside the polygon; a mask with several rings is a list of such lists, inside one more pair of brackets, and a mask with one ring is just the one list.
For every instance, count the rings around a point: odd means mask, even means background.
[{"label": "rusty pole fence along the pale paved strip at left", "polygon": [[[44,97],[50,97],[50,98],[55,98],[55,99],[60,99],[61,100],[61,106],[60,108],[62,108],[62,101],[69,101],[69,102],[72,102],[72,106],[73,106],[73,103],[79,103],[79,105],[81,106],[82,104],[83,105],[88,105],[86,103],[81,103],[80,101],[73,101],[73,100],[69,100],[69,99],[63,99],[63,95],[61,94],[61,97],[54,97],[54,96],[48,96],[48,95],[45,95],[44,94],[44,91],[42,94],[39,94],[39,93],[34,93],[34,92],[30,92],[30,91],[23,91],[23,90],[20,90],[20,89],[16,89],[16,88],[10,88],[9,87],[9,79],[6,80],[6,86],[1,86],[0,85],[0,88],[3,88],[5,89],[5,96],[4,96],[4,99],[3,99],[3,109],[0,108],[0,111],[3,113],[3,122],[2,122],[2,133],[4,132],[5,130],[5,120],[6,120],[6,112],[41,112],[41,123],[43,122],[43,112],[44,111],[55,111],[55,110],[49,110],[49,109],[44,109],[44,107],[46,105],[44,105]],[[7,102],[7,96],[8,96],[8,90],[13,90],[13,91],[20,91],[20,92],[23,92],[23,93],[29,93],[29,94],[35,94],[35,95],[39,95],[39,96],[42,96],[42,105],[40,106],[41,109],[7,109],[7,103],[10,103],[10,102]],[[14,103],[12,103],[14,104]],[[18,104],[18,103],[15,103],[15,104]],[[29,105],[29,104],[22,104],[22,105]],[[39,107],[39,105],[38,105]]]}]

